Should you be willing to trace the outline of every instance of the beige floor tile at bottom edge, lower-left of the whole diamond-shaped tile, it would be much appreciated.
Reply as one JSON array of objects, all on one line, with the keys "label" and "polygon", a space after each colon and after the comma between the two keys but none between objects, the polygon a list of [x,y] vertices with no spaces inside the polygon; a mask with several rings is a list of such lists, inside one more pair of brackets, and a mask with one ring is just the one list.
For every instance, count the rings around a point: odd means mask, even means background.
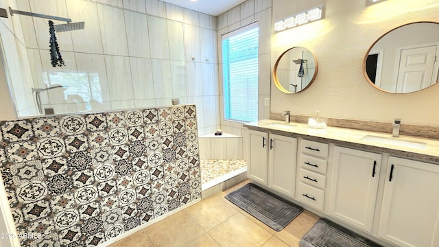
[{"label": "beige floor tile at bottom edge, lower-left of the whole diamond-shaped tile", "polygon": [[154,247],[187,246],[187,243],[205,233],[185,211],[170,215],[165,219],[145,228]]}]

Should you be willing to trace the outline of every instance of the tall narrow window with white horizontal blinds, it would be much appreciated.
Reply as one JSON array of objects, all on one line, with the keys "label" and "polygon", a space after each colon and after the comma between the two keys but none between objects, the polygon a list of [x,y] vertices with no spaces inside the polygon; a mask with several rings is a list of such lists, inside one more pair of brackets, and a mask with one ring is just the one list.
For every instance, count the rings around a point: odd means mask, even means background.
[{"label": "tall narrow window with white horizontal blinds", "polygon": [[224,117],[258,120],[259,25],[257,22],[222,36]]}]

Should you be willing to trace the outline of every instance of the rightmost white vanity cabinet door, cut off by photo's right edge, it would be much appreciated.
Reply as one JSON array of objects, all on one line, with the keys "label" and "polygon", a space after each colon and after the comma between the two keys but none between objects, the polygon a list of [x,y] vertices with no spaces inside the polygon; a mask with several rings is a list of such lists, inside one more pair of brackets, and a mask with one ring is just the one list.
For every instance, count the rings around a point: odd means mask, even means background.
[{"label": "rightmost white vanity cabinet door, cut off by photo's right edge", "polygon": [[439,246],[439,165],[390,157],[379,237],[397,246]]}]

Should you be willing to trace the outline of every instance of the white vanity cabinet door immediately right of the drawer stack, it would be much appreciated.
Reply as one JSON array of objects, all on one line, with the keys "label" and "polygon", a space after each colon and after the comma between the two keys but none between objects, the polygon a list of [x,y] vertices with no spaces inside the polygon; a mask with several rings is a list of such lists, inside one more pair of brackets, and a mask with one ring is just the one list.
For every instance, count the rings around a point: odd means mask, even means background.
[{"label": "white vanity cabinet door immediately right of the drawer stack", "polygon": [[329,215],[372,231],[381,154],[334,148]]}]

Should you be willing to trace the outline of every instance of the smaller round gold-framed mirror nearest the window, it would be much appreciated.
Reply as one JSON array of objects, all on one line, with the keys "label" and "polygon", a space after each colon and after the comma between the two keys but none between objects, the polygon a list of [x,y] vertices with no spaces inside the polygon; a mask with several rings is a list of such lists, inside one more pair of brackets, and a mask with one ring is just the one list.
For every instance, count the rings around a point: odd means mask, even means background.
[{"label": "smaller round gold-framed mirror nearest the window", "polygon": [[317,69],[317,60],[311,51],[304,47],[287,49],[274,64],[274,84],[283,93],[299,93],[311,85]]}]

